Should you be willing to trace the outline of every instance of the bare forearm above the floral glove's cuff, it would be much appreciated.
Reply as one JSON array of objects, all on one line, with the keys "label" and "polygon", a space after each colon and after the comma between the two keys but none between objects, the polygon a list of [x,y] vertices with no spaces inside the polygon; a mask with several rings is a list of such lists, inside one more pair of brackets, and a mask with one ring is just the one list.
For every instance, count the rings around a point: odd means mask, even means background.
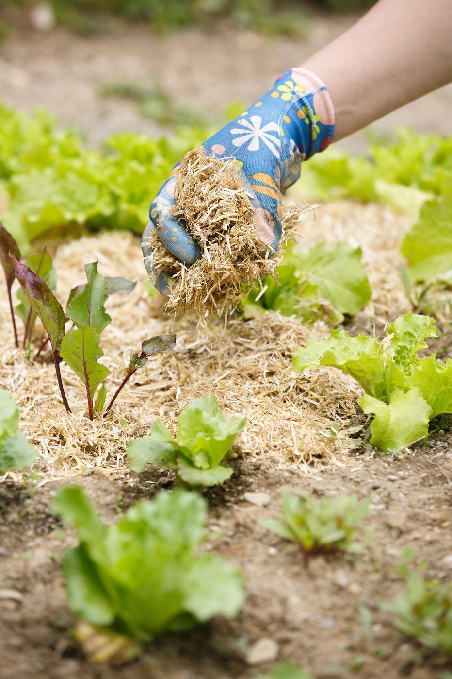
[{"label": "bare forearm above the floral glove's cuff", "polygon": [[326,84],[335,141],[452,79],[452,1],[379,0],[302,65]]}]

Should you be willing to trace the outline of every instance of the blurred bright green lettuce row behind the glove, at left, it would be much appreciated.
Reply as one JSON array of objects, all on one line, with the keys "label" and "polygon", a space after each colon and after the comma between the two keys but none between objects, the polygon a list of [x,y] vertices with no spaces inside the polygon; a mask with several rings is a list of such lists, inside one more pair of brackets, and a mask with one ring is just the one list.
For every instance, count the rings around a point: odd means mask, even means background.
[{"label": "blurred bright green lettuce row behind the glove, at left", "polygon": [[46,111],[29,115],[0,104],[0,204],[7,206],[0,217],[23,250],[51,228],[77,224],[141,234],[150,197],[210,132],[186,126],[158,140],[125,132],[94,151],[74,130],[58,130]]}]

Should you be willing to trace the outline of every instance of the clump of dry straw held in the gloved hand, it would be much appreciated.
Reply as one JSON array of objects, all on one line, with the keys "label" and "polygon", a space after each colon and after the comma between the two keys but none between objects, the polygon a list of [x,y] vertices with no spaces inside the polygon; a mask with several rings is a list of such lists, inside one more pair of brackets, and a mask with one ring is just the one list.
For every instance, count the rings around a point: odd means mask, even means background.
[{"label": "clump of dry straw held in the gloved hand", "polygon": [[254,287],[258,281],[262,287],[261,278],[274,276],[281,248],[273,253],[259,238],[254,210],[233,159],[207,156],[202,147],[186,153],[172,213],[182,219],[202,255],[188,267],[157,235],[150,240],[157,274],[167,270],[173,275],[167,311],[224,314],[226,322],[243,297],[243,285]]}]

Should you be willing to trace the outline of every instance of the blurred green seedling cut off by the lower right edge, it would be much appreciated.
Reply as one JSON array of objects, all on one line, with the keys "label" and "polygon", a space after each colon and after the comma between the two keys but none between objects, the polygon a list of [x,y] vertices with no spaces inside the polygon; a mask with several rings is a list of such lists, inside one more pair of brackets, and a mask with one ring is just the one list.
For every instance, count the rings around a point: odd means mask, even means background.
[{"label": "blurred green seedling cut off by the lower right edge", "polygon": [[403,592],[382,608],[394,626],[422,646],[452,657],[452,584],[439,585],[413,571]]}]

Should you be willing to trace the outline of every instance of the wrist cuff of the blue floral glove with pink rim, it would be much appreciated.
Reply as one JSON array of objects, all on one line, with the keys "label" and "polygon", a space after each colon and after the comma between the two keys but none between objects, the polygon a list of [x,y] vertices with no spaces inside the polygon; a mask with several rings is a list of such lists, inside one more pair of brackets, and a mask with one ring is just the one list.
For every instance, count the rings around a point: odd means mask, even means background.
[{"label": "wrist cuff of the blue floral glove with pink rim", "polygon": [[327,86],[319,77],[300,67],[290,69],[276,79],[270,96],[291,100],[302,160],[329,146],[334,134],[334,108]]}]

